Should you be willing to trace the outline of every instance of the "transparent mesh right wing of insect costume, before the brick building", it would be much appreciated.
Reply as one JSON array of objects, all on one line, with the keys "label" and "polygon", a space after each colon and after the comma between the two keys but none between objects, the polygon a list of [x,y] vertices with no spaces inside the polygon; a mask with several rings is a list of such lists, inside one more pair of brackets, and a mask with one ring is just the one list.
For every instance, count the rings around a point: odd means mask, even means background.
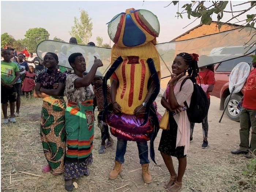
[{"label": "transparent mesh right wing of insect costume, before the brick building", "polygon": [[[161,76],[165,78],[170,75],[173,60],[181,52],[199,54],[199,67],[252,54],[256,49],[255,45],[253,46],[253,42],[256,41],[255,34],[255,28],[245,27],[183,41],[157,44],[161,69],[163,68]],[[165,64],[169,70],[165,70],[166,66],[163,66]]]}]

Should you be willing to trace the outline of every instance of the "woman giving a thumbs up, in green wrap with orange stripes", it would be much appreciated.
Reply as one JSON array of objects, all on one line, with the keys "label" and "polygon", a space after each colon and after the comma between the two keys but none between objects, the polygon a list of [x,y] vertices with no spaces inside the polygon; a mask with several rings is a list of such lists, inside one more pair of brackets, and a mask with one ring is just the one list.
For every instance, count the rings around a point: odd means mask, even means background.
[{"label": "woman giving a thumbs up, in green wrap with orange stripes", "polygon": [[86,63],[81,53],[72,53],[68,62],[74,69],[67,75],[64,95],[68,98],[65,111],[67,154],[65,157],[65,189],[72,191],[73,179],[89,176],[88,165],[93,162],[94,93],[91,86],[96,70],[103,64],[95,57],[94,65],[87,75]]}]

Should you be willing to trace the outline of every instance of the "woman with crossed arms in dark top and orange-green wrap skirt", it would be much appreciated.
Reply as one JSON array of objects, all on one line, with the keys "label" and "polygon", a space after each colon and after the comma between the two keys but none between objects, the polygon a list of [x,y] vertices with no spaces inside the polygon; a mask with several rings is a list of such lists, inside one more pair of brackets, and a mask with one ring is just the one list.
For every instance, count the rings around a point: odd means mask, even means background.
[{"label": "woman with crossed arms in dark top and orange-green wrap skirt", "polygon": [[[38,75],[34,91],[34,97],[43,99],[40,136],[48,164],[42,167],[42,172],[52,170],[54,175],[64,172],[66,150],[66,105],[63,99],[66,76],[57,71],[58,63],[55,53],[46,53],[44,65],[48,70]],[[54,83],[58,83],[57,89],[53,88]]]}]

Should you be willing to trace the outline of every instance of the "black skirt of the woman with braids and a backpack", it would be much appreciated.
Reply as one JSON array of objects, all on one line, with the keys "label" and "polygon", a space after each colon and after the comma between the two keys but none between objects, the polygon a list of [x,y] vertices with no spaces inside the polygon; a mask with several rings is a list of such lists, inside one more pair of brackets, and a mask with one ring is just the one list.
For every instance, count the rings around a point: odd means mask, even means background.
[{"label": "black skirt of the woman with braids and a backpack", "polygon": [[172,115],[169,116],[169,125],[169,130],[162,131],[158,150],[173,157],[186,157],[187,155],[184,155],[185,146],[176,147],[178,125]]}]

